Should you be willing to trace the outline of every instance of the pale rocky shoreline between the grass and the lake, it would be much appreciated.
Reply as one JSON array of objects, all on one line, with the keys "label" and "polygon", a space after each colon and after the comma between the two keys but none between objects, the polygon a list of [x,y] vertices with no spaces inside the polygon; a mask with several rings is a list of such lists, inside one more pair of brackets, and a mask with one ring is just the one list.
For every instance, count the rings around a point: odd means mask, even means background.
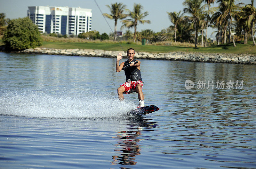
[{"label": "pale rocky shoreline between the grass and the lake", "polygon": [[[117,53],[124,51],[104,51],[99,49],[49,49],[39,48],[26,49],[17,53],[32,54],[50,54],[50,55],[69,55],[69,56],[92,56],[115,58]],[[135,52],[137,59],[151,60],[179,60],[195,62],[213,62],[213,63],[236,63],[236,64],[253,64],[256,65],[256,56],[253,54],[233,54],[233,53],[187,53],[187,52],[170,52],[170,53],[147,53]]]}]

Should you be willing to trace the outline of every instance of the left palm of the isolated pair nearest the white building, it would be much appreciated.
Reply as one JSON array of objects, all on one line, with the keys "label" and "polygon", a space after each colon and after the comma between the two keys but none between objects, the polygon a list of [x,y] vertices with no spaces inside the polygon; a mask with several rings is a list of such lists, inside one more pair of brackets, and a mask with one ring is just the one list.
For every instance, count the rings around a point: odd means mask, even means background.
[{"label": "left palm of the isolated pair nearest the white building", "polygon": [[116,40],[116,25],[117,25],[117,20],[118,19],[124,19],[127,17],[126,14],[124,14],[124,10],[126,5],[123,5],[122,3],[115,3],[111,4],[111,7],[109,5],[106,5],[109,9],[111,14],[104,13],[103,15],[109,19],[114,19],[115,20],[115,40]]}]

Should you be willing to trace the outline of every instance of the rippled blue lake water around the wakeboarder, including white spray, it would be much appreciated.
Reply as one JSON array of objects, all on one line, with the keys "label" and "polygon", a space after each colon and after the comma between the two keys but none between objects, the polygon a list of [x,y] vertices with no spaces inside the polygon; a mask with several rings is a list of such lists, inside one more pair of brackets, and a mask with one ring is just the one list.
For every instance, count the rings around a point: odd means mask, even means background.
[{"label": "rippled blue lake water around the wakeboarder, including white spray", "polygon": [[0,168],[256,168],[255,65],[141,60],[142,117],[115,65],[0,53]]}]

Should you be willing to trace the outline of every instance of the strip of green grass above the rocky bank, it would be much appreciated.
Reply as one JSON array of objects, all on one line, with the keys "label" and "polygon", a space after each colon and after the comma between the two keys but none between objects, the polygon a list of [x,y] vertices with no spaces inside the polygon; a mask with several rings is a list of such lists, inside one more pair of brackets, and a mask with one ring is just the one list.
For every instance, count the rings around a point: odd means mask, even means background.
[{"label": "strip of green grass above the rocky bank", "polygon": [[[183,46],[142,46],[134,44],[121,44],[126,51],[129,48],[134,48],[139,52],[149,53],[168,53],[168,52],[200,52],[200,53],[249,53],[256,54],[256,46],[253,46],[252,41],[248,41],[248,44],[242,42],[236,42],[236,47],[233,47],[233,43],[222,44],[218,46],[210,47],[183,47]],[[199,46],[199,45],[198,45]],[[102,49],[108,51],[120,51],[122,50],[119,44],[108,43],[69,43],[69,42],[45,42],[41,48],[56,48],[56,49]]]}]

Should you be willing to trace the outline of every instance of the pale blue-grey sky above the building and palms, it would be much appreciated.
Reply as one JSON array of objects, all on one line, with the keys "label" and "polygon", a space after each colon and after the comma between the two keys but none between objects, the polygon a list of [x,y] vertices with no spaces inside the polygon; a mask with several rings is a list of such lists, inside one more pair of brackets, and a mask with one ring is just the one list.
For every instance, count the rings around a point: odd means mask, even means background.
[{"label": "pale blue-grey sky above the building and palms", "polygon": [[[126,9],[132,11],[133,4],[141,4],[143,6],[143,12],[148,11],[148,16],[145,17],[145,20],[150,20],[151,24],[139,24],[137,31],[151,29],[154,32],[160,32],[162,29],[165,29],[172,25],[170,22],[167,12],[179,12],[182,11],[184,6],[182,3],[184,0],[130,0],[130,1],[121,1],[121,0],[96,0],[101,11],[103,13],[110,13],[106,5],[111,5],[116,2],[123,3],[126,5]],[[251,0],[238,0],[237,3],[242,2],[244,4],[251,4]],[[106,20],[100,13],[99,8],[97,7],[94,0],[0,0],[0,13],[5,13],[6,18],[23,18],[27,16],[28,6],[68,6],[68,7],[81,7],[92,9],[92,30],[99,31],[100,34],[106,32],[110,33],[111,29],[114,31],[114,20],[108,19],[107,21],[111,26],[109,28]],[[215,3],[214,6],[217,4]],[[254,1],[254,6],[256,6],[256,1]],[[122,23],[120,20],[117,23],[117,30],[121,30],[120,27]],[[127,29],[123,29],[125,32]],[[131,32],[134,32],[134,29],[130,29]],[[207,36],[210,37],[211,33],[215,31],[211,28],[208,29]],[[212,38],[215,35],[212,35]]]}]

